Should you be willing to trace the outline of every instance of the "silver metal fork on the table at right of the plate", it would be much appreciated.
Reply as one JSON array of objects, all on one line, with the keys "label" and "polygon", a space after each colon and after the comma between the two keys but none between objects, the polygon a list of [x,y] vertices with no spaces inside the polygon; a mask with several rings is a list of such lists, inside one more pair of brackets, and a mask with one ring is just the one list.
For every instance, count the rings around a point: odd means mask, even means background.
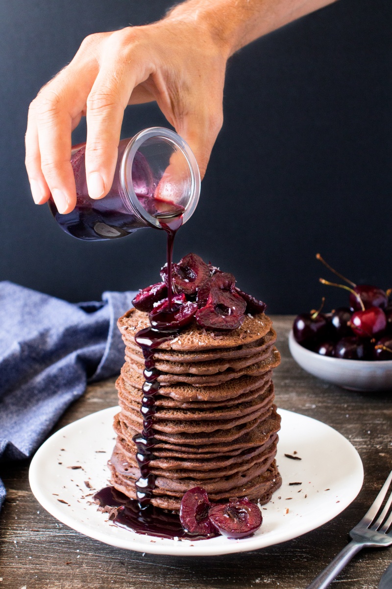
[{"label": "silver metal fork on the table at right of the plate", "polygon": [[[386,482],[384,482],[383,488],[378,493],[376,499],[374,499],[374,503],[367,514],[351,530],[350,536],[352,540],[350,544],[347,544],[339,552],[333,561],[324,568],[323,572],[308,585],[307,589],[325,589],[325,587],[328,587],[331,581],[343,570],[347,562],[350,562],[354,554],[357,554],[362,548],[381,548],[392,544],[392,530],[390,530],[392,527],[392,491],[384,505],[383,511],[377,517],[391,481],[392,471]],[[388,530],[390,531],[388,532]]]}]

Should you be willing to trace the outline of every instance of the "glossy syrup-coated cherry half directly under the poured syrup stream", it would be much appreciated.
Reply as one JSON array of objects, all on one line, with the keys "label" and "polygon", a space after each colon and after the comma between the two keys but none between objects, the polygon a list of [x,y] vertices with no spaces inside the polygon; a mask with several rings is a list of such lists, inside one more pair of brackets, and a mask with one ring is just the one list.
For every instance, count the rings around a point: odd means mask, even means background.
[{"label": "glossy syrup-coated cherry half directly under the poured syrup stream", "polygon": [[190,323],[197,311],[196,303],[186,300],[185,294],[175,294],[172,306],[169,299],[163,299],[149,313],[150,324],[154,329],[178,329]]}]

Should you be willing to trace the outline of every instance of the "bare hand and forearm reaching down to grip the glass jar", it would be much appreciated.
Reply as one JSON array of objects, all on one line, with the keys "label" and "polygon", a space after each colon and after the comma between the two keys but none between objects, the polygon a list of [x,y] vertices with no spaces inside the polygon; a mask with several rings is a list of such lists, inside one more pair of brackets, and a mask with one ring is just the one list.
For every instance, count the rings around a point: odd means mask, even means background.
[{"label": "bare hand and forearm reaching down to grip the glass jar", "polygon": [[87,119],[89,195],[113,182],[123,112],[155,100],[205,174],[223,122],[227,59],[254,39],[334,0],[187,0],[161,21],[89,35],[29,108],[26,168],[33,198],[75,207],[71,132]]}]

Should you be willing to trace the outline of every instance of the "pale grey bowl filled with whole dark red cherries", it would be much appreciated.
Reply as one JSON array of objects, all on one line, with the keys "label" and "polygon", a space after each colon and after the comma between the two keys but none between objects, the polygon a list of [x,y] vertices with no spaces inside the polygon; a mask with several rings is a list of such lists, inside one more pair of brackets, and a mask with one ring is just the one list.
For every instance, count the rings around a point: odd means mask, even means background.
[{"label": "pale grey bowl filled with whole dark red cherries", "polygon": [[314,376],[353,391],[392,390],[392,289],[355,284],[334,270],[347,284],[329,282],[350,293],[347,307],[331,313],[301,313],[289,335],[294,360]]}]

